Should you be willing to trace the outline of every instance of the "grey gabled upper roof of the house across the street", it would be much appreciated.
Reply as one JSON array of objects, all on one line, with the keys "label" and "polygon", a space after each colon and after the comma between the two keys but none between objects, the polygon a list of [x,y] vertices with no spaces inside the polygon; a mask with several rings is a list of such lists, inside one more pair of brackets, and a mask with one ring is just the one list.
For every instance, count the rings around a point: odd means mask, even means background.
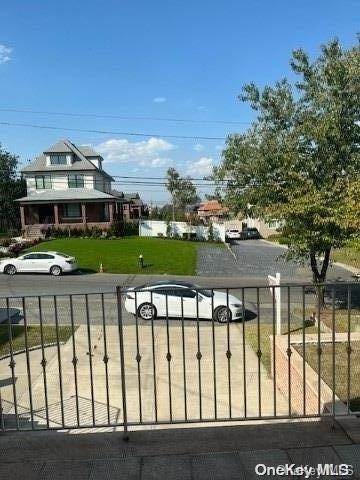
[{"label": "grey gabled upper roof of the house across the street", "polygon": [[[72,153],[74,155],[72,165],[46,165],[46,154],[48,153]],[[79,146],[77,147],[74,143],[71,143],[70,140],[60,140],[51,147],[47,148],[44,153],[35,160],[33,160],[30,165],[24,167],[21,171],[26,172],[59,172],[59,171],[98,171],[102,175],[108,177],[111,181],[114,179],[104,172],[97,168],[89,158],[87,157],[100,157],[95,150],[88,146]]]}]

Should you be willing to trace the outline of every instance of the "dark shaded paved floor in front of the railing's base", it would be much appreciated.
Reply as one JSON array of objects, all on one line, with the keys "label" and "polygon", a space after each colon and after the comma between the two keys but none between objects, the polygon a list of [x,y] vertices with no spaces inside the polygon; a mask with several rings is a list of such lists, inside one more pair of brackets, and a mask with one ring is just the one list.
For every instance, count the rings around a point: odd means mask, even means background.
[{"label": "dark shaded paved floor in front of the railing's base", "polygon": [[11,433],[0,436],[0,478],[252,480],[260,478],[257,464],[292,463],[350,464],[356,476],[319,478],[360,478],[356,442],[360,442],[358,419],[337,423],[335,429],[322,420],[136,431],[129,442],[120,433]]}]

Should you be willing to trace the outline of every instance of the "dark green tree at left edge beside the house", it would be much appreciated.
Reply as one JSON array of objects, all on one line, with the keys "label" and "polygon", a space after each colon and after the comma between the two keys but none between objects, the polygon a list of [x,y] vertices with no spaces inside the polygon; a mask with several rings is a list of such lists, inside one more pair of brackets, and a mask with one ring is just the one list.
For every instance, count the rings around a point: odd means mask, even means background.
[{"label": "dark green tree at left edge beside the house", "polygon": [[18,177],[18,164],[18,157],[0,145],[0,230],[5,232],[20,228],[19,205],[15,200],[26,195],[26,184]]}]

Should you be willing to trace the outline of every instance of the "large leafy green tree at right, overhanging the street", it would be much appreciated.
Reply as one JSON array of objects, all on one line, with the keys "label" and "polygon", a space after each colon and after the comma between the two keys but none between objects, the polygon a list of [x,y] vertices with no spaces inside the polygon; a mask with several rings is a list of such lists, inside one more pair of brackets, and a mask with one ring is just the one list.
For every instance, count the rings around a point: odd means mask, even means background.
[{"label": "large leafy green tree at right, overhanging the street", "polygon": [[359,235],[359,41],[345,50],[334,40],[313,62],[296,50],[291,68],[294,85],[284,79],[262,91],[243,88],[240,100],[258,117],[249,131],[228,137],[215,177],[225,180],[237,212],[280,220],[287,257],[309,262],[321,283],[331,249]]}]

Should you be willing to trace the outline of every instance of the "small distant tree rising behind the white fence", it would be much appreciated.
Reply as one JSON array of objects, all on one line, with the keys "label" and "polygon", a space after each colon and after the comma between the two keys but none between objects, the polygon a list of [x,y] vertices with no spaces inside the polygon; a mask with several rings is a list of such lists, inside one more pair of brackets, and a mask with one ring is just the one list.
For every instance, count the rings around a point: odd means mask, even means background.
[{"label": "small distant tree rising behind the white fence", "polygon": [[199,200],[196,187],[190,177],[181,177],[173,167],[166,172],[166,188],[172,198],[173,221],[175,221],[177,210],[183,211],[186,205],[191,205]]}]

